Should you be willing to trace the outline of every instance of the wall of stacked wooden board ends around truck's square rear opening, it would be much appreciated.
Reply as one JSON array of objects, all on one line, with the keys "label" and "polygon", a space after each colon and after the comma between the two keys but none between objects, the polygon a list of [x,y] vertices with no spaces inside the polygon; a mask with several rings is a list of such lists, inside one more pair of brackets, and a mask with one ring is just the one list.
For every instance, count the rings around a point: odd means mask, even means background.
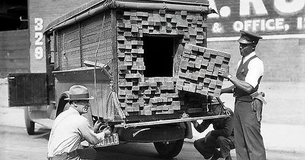
[{"label": "wall of stacked wooden board ends around truck's square rear opening", "polygon": [[143,35],[182,36],[182,44],[204,46],[200,13],[168,10],[116,12],[118,98],[126,115],[173,114],[184,101],[174,88],[177,78],[144,79]]}]

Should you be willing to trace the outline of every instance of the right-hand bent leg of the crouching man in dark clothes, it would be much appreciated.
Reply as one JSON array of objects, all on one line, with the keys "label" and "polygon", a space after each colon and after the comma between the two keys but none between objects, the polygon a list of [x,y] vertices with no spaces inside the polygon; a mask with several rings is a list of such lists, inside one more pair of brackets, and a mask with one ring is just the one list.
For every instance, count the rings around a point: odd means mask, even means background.
[{"label": "right-hand bent leg of the crouching man in dark clothes", "polygon": [[220,152],[221,152],[221,157],[226,158],[226,157],[231,157],[230,156],[230,150],[234,147],[234,142],[232,142],[231,138],[225,138],[223,136],[219,136],[217,138],[217,142],[219,144]]}]

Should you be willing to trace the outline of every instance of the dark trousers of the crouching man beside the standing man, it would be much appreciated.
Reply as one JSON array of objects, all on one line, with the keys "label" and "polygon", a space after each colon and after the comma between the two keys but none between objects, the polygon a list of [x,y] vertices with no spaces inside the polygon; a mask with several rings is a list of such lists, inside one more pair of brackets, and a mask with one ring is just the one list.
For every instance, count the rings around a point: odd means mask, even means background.
[{"label": "dark trousers of the crouching man beside the standing man", "polygon": [[205,159],[210,158],[217,152],[217,148],[220,148],[221,156],[227,157],[231,149],[234,149],[234,138],[219,136],[215,138],[214,136],[207,136],[194,141],[195,148],[203,155]]}]

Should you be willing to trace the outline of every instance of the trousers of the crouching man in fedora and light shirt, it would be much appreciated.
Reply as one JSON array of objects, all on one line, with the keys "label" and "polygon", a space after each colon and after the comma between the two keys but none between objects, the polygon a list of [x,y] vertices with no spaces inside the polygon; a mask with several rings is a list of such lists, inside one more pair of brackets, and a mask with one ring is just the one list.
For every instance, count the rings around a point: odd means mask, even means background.
[{"label": "trousers of the crouching man in fedora and light shirt", "polygon": [[62,155],[55,155],[52,157],[47,157],[48,160],[62,160],[62,159],[69,159],[69,160],[80,160],[80,159],[95,159],[97,156],[97,151],[93,148],[84,148],[84,149],[77,149],[70,153],[65,153]]}]

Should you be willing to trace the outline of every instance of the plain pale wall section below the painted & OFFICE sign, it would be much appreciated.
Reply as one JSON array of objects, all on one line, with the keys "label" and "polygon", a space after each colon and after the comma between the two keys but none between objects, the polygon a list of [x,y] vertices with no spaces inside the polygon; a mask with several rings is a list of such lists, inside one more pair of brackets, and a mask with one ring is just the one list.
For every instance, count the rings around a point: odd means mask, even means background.
[{"label": "plain pale wall section below the painted & OFFICE sign", "polygon": [[[241,58],[236,41],[207,42],[207,47],[231,53],[230,73],[236,74]],[[264,62],[262,81],[305,81],[305,39],[261,40],[256,53]]]}]

